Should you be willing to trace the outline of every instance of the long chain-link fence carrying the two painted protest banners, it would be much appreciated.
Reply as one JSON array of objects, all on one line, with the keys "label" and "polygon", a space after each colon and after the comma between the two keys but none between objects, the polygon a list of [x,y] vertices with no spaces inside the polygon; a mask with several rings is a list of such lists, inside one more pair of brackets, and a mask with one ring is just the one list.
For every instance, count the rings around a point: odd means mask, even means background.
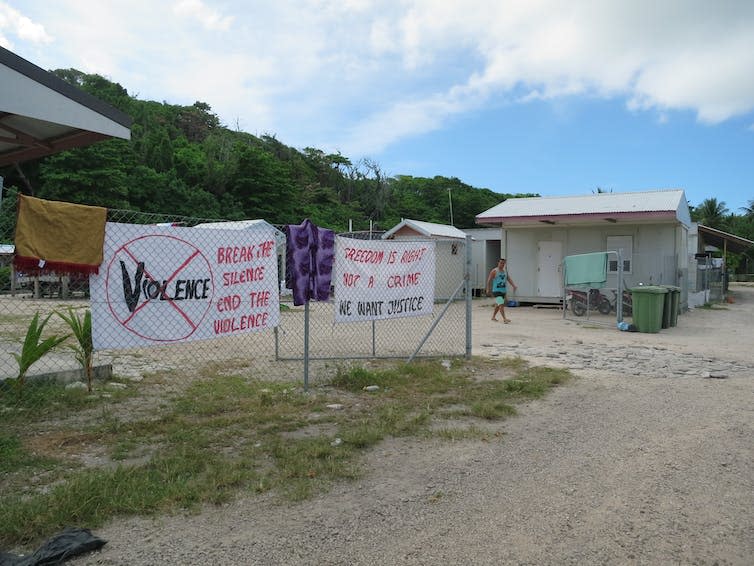
[{"label": "long chain-link fence carrying the two painted protest banners", "polygon": [[[338,321],[338,308],[343,307],[336,278],[342,281],[343,273],[334,273],[327,300],[293,304],[290,290],[282,284],[286,268],[282,226],[259,221],[218,226],[216,220],[207,225],[207,219],[108,210],[108,222],[126,226],[122,238],[128,244],[106,240],[105,263],[90,281],[44,271],[16,273],[12,267],[15,207],[14,195],[7,195],[0,209],[0,242],[5,243],[0,248],[0,384],[17,376],[19,366],[13,354],[21,352],[37,313],[40,322],[51,315],[41,336],[44,339],[70,334],[55,313],[83,317],[90,310],[93,362],[104,377],[201,376],[210,369],[225,368],[228,372],[242,369],[262,379],[297,380],[311,375],[317,380],[349,359],[409,359],[470,351],[464,333],[464,328],[470,328],[470,309],[464,300],[464,241],[396,241],[392,244],[396,249],[431,246],[434,271],[395,271],[385,258],[382,264],[370,266],[378,280],[375,288],[381,286],[385,296],[352,305],[354,312],[360,309],[368,318],[417,309],[420,295],[414,290],[431,279],[432,292],[427,296],[432,304],[419,305],[424,316]],[[144,226],[153,235],[151,243],[143,235]],[[229,228],[234,234],[243,230],[244,235],[229,237]],[[191,238],[186,230],[191,231]],[[202,252],[206,249],[213,250],[212,254]],[[218,250],[223,250],[222,258]],[[244,255],[247,252],[249,257]],[[206,275],[210,271],[213,275]],[[210,289],[211,277],[214,289]],[[422,289],[426,293],[427,288]],[[83,370],[65,347],[73,342],[69,338],[35,361],[29,379],[80,380]]]}]

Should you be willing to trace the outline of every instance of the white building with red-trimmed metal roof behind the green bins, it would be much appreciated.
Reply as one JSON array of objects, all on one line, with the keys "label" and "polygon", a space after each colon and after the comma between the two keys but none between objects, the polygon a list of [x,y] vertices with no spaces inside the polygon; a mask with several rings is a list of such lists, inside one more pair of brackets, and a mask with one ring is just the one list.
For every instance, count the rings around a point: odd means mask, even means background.
[{"label": "white building with red-trimmed metal roof behind the green bins", "polygon": [[691,215],[681,189],[511,198],[476,221],[498,228],[519,301],[559,302],[564,257],[620,249],[623,269],[608,262],[608,287],[618,276],[626,287],[676,285],[686,304]]}]

